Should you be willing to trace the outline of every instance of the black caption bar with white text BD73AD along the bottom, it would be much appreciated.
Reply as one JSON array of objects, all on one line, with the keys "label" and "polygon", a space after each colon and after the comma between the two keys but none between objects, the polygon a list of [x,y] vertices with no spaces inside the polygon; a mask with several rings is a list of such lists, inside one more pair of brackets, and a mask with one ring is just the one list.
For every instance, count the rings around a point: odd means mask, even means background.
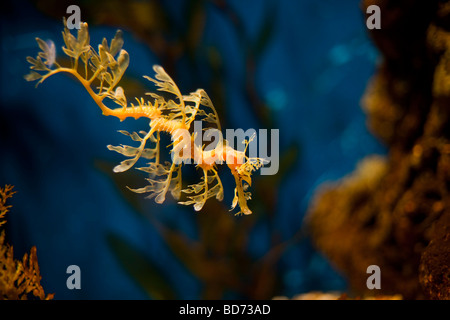
[{"label": "black caption bar with white text BD73AD along the bottom", "polygon": [[[146,319],[314,319],[333,318],[392,318],[399,316],[434,319],[448,315],[449,301],[299,301],[299,300],[52,300],[52,301],[0,301],[3,313],[11,311],[14,317],[59,315],[86,317],[100,312],[107,315],[123,312],[129,317]],[[29,314],[27,314],[29,313]],[[134,315],[134,316],[133,316]],[[128,316],[127,316],[128,317]]]}]

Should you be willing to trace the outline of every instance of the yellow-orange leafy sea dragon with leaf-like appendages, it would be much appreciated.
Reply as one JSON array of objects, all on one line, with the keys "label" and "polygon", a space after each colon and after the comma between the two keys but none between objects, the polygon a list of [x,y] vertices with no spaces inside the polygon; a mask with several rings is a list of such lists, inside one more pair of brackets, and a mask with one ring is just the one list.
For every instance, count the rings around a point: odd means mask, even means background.
[{"label": "yellow-orange leafy sea dragon with leaf-like appendages", "polygon": [[[223,200],[223,185],[217,172],[216,164],[226,162],[236,182],[233,210],[239,206],[236,214],[251,214],[247,200],[251,193],[246,189],[251,185],[251,174],[264,164],[264,159],[250,158],[246,150],[251,139],[243,141],[244,151],[238,151],[229,146],[225,139],[221,139],[212,150],[205,150],[204,146],[194,143],[195,133],[190,131],[194,120],[209,123],[221,132],[216,109],[203,89],[198,89],[189,95],[182,95],[172,78],[161,66],[155,65],[155,78],[145,76],[152,81],[158,91],[165,92],[166,99],[158,93],[148,93],[153,101],[136,99],[136,104],[128,104],[122,87],[118,86],[129,64],[129,55],[122,49],[122,32],[118,30],[108,44],[106,39],[95,51],[89,44],[87,23],[81,23],[77,37],[67,28],[64,20],[63,38],[65,46],[62,50],[70,58],[70,67],[61,66],[56,60],[55,44],[36,38],[41,49],[36,58],[27,57],[31,64],[31,72],[25,76],[28,81],[38,81],[36,86],[45,79],[57,73],[66,73],[75,77],[86,89],[94,102],[100,107],[103,115],[114,116],[123,121],[126,118],[145,117],[150,120],[150,129],[139,133],[119,131],[136,142],[137,146],[108,146],[109,150],[121,153],[128,159],[114,168],[114,172],[124,172],[133,167],[140,158],[150,160],[148,166],[137,168],[149,174],[148,185],[139,189],[131,189],[137,193],[149,193],[148,198],[155,198],[157,203],[163,203],[166,194],[179,200],[181,192],[187,194],[187,201],[179,202],[183,205],[193,205],[196,211],[203,208],[206,200],[216,197]],[[111,109],[104,104],[105,99],[118,105]],[[160,163],[160,134],[171,135],[172,163]],[[187,134],[186,134],[187,133]],[[151,146],[147,146],[147,144]],[[186,151],[188,150],[188,151]],[[197,184],[182,189],[181,167],[187,160],[194,160],[197,168],[203,171],[203,177]],[[190,162],[189,162],[190,163]]]}]

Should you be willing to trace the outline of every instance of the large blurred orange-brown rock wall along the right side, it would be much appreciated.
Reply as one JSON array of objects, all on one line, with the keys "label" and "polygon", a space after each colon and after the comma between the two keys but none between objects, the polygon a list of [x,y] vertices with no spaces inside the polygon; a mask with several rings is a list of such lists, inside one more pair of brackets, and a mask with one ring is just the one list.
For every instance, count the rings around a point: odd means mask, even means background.
[{"label": "large blurred orange-brown rock wall along the right side", "polygon": [[389,148],[322,186],[307,223],[319,250],[370,295],[450,299],[450,3],[366,0],[381,8],[370,30],[382,62],[362,99],[368,126]]}]

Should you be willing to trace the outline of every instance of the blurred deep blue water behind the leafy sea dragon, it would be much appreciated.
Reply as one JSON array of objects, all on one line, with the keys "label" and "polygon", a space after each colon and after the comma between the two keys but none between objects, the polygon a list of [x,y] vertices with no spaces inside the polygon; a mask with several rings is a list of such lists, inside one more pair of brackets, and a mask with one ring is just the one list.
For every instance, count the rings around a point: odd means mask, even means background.
[{"label": "blurred deep blue water behind the leafy sea dragon", "polygon": [[[184,2],[162,3],[177,20]],[[249,39],[257,35],[265,9],[270,5],[276,9],[272,37],[257,65],[256,89],[273,111],[273,127],[280,129],[280,152],[292,143],[301,146],[294,167],[274,190],[278,196],[271,228],[289,239],[301,227],[311,196],[321,183],[351,172],[368,154],[384,152],[368,132],[360,107],[377,52],[356,0],[229,3],[242,17]],[[26,82],[25,58],[38,52],[34,38],[53,39],[61,54],[62,23],[26,1],[11,1],[2,7],[0,184],[13,184],[17,191],[7,224],[16,255],[37,247],[42,284],[56,299],[145,299],[148,296],[124,272],[107,244],[105,235],[114,232],[157,261],[170,275],[179,298],[199,298],[202,285],[198,279],[183,268],[154,225],[133,212],[111,178],[96,166],[99,159],[121,160],[106,149],[108,144],[128,142],[117,130],[146,129],[147,123],[120,123],[103,117],[84,89],[68,77],[52,77],[37,89]],[[223,59],[226,115],[222,124],[260,128],[244,95],[246,68],[239,35],[213,5],[206,8],[201,42],[216,47]],[[91,25],[91,45],[96,47],[102,37],[110,39],[115,30]],[[123,30],[124,48],[131,58],[128,72],[152,76],[152,65],[161,61],[126,26]],[[177,63],[177,80],[182,90],[194,90],[191,81],[208,76],[189,74],[187,65],[184,59]],[[230,197],[227,193],[227,205]],[[255,207],[253,201],[251,207]],[[193,211],[171,201],[158,206],[149,200],[148,208],[156,219],[195,237]],[[266,227],[255,227],[249,254],[263,255],[268,237]],[[81,268],[81,290],[66,288],[66,268],[71,264]],[[308,240],[282,256],[278,272],[279,295],[348,289],[345,279]]]}]

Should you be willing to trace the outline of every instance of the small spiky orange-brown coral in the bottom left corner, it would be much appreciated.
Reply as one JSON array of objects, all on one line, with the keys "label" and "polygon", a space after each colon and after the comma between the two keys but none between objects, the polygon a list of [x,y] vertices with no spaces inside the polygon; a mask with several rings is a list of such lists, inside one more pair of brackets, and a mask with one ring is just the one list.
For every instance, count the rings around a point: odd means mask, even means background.
[{"label": "small spiky orange-brown coral in the bottom left corner", "polygon": [[[6,201],[14,192],[12,186],[0,188],[0,226],[5,224],[5,216],[11,206]],[[45,295],[36,255],[36,247],[22,260],[15,260],[13,247],[5,243],[5,231],[0,233],[0,299],[26,300],[29,298],[53,299],[53,294]]]}]

